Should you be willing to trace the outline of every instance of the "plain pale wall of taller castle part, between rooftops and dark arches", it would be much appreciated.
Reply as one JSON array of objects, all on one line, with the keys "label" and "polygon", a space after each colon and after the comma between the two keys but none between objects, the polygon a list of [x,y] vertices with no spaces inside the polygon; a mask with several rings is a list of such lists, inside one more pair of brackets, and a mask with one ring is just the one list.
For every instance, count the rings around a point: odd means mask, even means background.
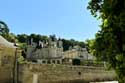
[{"label": "plain pale wall of taller castle part, between rooftops and dark arches", "polygon": [[34,48],[33,46],[28,46],[27,48],[27,58],[28,59],[51,59],[51,58],[62,58],[63,48],[57,47],[47,47],[47,48]]}]

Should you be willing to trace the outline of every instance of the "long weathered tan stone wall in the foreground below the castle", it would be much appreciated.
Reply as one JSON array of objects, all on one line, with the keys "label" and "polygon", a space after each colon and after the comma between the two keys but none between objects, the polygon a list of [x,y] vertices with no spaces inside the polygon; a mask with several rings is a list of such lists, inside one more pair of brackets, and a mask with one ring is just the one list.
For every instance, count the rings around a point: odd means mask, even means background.
[{"label": "long weathered tan stone wall in the foreground below the castle", "polygon": [[19,66],[20,83],[85,83],[115,78],[114,71],[106,71],[103,67],[33,63]]}]

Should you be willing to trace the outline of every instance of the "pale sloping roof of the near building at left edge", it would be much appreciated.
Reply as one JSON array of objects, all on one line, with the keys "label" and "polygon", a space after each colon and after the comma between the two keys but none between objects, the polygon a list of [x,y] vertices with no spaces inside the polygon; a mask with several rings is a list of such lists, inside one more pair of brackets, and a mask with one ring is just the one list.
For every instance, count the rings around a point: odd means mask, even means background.
[{"label": "pale sloping roof of the near building at left edge", "polygon": [[13,43],[8,42],[5,38],[0,35],[0,46],[5,46],[9,48],[17,48]]}]

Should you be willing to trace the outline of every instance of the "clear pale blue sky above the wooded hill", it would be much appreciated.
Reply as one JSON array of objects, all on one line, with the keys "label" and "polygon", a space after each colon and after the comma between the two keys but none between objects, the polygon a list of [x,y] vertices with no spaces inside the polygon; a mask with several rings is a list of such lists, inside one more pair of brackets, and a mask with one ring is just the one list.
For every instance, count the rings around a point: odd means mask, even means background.
[{"label": "clear pale blue sky above the wooded hill", "polygon": [[52,35],[85,41],[99,21],[87,10],[89,0],[1,0],[0,20],[15,34]]}]

